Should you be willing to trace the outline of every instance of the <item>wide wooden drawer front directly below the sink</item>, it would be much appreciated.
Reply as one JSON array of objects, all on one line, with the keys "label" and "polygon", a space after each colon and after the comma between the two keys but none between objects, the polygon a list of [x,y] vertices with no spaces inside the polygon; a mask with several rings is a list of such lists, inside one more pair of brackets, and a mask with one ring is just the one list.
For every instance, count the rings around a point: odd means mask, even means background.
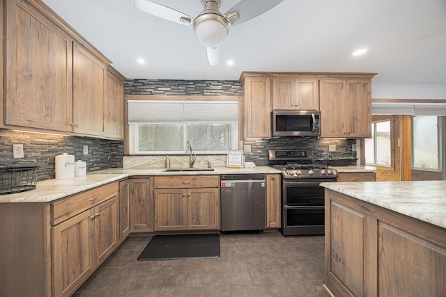
[{"label": "wide wooden drawer front directly below the sink", "polygon": [[217,188],[218,175],[171,175],[155,177],[155,188]]}]

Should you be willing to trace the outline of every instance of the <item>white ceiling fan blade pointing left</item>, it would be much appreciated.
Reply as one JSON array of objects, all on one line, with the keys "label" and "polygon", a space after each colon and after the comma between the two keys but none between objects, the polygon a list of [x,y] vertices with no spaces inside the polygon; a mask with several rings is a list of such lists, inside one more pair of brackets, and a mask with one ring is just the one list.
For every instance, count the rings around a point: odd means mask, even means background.
[{"label": "white ceiling fan blade pointing left", "polygon": [[155,15],[155,17],[161,17],[162,19],[167,19],[168,21],[185,26],[190,26],[194,20],[193,17],[180,13],[178,10],[148,0],[134,0],[134,7],[144,13]]}]

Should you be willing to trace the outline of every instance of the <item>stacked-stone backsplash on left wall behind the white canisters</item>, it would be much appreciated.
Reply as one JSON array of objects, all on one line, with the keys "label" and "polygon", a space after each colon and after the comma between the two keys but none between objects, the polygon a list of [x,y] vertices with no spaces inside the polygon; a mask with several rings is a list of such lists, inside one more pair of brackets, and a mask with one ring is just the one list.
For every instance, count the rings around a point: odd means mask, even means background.
[{"label": "stacked-stone backsplash on left wall behind the white canisters", "polygon": [[[23,159],[13,159],[14,144],[23,145]],[[89,154],[84,155],[84,145]],[[123,168],[123,141],[0,130],[0,163],[36,161],[42,170],[39,181],[55,177],[55,156],[64,152],[74,155],[75,161],[86,161],[87,172]]]}]

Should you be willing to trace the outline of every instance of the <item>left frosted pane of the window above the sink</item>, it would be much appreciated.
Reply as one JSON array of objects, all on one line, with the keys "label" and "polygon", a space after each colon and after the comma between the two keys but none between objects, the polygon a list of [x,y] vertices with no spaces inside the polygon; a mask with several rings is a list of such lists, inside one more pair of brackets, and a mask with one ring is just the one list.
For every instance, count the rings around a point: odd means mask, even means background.
[{"label": "left frosted pane of the window above the sink", "polygon": [[138,125],[138,150],[182,151],[183,124],[146,124]]}]

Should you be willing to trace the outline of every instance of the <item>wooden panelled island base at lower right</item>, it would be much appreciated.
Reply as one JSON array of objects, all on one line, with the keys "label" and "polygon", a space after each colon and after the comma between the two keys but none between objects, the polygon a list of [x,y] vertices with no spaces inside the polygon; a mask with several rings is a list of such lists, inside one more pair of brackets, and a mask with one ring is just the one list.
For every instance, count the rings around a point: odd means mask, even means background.
[{"label": "wooden panelled island base at lower right", "polygon": [[325,189],[334,296],[446,296],[446,230]]}]

